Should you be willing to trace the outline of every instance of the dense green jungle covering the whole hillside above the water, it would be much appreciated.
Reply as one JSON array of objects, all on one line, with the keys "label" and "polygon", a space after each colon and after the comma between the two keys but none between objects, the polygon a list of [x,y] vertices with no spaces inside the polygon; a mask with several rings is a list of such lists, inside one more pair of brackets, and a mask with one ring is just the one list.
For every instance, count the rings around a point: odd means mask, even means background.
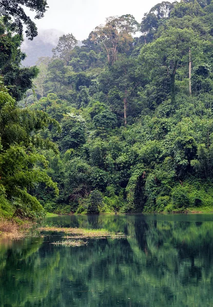
[{"label": "dense green jungle covering the whole hillside above the water", "polygon": [[212,29],[213,1],[162,2],[24,68],[2,18],[1,212],[212,210]]}]

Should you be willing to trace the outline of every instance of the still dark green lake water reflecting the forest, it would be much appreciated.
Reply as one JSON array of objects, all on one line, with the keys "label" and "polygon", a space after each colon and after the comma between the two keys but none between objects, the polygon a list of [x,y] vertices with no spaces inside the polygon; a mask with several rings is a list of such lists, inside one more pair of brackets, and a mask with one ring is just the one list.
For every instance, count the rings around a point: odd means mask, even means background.
[{"label": "still dark green lake water reflecting the forest", "polygon": [[87,246],[61,233],[0,242],[1,307],[213,306],[213,215],[48,218],[49,225],[122,231]]}]

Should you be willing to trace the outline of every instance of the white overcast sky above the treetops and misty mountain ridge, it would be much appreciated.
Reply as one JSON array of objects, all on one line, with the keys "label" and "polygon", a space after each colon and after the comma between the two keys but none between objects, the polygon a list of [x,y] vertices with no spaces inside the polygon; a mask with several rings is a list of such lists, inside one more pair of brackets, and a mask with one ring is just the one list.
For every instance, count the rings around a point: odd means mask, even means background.
[{"label": "white overcast sky above the treetops and misty mountain ridge", "polygon": [[[141,22],[144,13],[162,0],[47,0],[45,17],[35,20],[39,29],[57,29],[86,39],[106,17],[132,14]],[[170,1],[172,2],[172,1]],[[31,15],[31,14],[30,14]]]}]

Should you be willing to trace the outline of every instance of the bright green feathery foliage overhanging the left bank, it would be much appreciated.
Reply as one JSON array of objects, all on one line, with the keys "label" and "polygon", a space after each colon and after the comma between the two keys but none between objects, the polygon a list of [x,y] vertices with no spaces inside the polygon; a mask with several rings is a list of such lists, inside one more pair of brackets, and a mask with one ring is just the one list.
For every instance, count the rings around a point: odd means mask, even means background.
[{"label": "bright green feathery foliage overhanging the left bank", "polygon": [[46,173],[46,158],[36,149],[55,146],[37,136],[36,132],[54,121],[39,111],[18,109],[2,82],[0,87],[1,208],[19,216],[41,215],[44,210],[29,190],[40,182],[44,182],[56,193],[58,189]]}]

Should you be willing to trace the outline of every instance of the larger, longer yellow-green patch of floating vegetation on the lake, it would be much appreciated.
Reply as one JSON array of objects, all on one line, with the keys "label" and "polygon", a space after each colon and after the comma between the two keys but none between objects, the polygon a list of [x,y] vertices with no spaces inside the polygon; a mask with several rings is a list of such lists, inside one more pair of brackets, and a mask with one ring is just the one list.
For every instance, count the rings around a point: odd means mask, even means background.
[{"label": "larger, longer yellow-green patch of floating vegetation on the lake", "polygon": [[106,229],[83,229],[83,228],[66,228],[66,227],[41,227],[41,231],[64,232],[65,238],[72,239],[101,239],[101,238],[126,238],[122,232],[109,232]]}]

